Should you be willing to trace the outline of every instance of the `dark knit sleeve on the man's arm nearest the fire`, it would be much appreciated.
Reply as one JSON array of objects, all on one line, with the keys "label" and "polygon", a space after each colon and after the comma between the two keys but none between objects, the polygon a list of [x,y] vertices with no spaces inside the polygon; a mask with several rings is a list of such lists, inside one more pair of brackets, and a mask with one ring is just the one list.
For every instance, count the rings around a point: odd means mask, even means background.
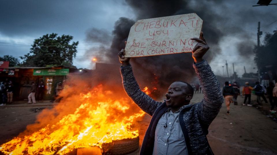
[{"label": "dark knit sleeve on the man's arm nearest the fire", "polygon": [[120,72],[125,92],[145,113],[152,116],[162,102],[153,100],[150,96],[141,91],[134,77],[131,65],[125,67],[121,66]]}]

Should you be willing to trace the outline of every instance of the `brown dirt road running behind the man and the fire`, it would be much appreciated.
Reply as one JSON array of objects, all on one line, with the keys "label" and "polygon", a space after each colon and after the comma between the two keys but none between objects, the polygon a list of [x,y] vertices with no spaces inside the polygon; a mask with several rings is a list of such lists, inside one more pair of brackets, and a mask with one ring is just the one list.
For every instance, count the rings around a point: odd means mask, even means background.
[{"label": "brown dirt road running behind the man and the fire", "polygon": [[[201,101],[203,94],[194,94],[192,103]],[[252,96],[252,100],[255,97]],[[239,105],[231,105],[231,114],[226,115],[222,104],[220,113],[209,127],[208,140],[215,154],[277,154],[277,123],[263,115],[255,107],[242,106],[243,98],[238,97]],[[269,105],[265,105],[269,106]],[[24,131],[28,124],[35,122],[38,114],[30,111],[36,107],[0,108],[0,144]],[[140,145],[151,117],[141,121]],[[138,154],[139,150],[132,154]]]}]

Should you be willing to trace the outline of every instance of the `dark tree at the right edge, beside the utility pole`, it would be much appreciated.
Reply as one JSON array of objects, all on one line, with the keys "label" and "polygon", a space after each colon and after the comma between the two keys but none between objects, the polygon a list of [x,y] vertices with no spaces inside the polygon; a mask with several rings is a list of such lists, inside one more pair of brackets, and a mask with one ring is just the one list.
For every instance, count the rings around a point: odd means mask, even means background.
[{"label": "dark tree at the right edge, beside the utility pole", "polygon": [[259,69],[267,65],[277,65],[277,30],[273,34],[267,33],[264,38],[264,45],[255,47],[255,62]]}]

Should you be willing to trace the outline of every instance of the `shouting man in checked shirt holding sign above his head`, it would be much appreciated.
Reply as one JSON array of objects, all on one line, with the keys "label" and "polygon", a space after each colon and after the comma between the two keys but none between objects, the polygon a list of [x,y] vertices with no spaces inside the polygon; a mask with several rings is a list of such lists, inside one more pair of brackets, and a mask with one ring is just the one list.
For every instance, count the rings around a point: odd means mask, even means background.
[{"label": "shouting man in checked shirt holding sign above his head", "polygon": [[[206,135],[208,127],[223,103],[219,83],[207,61],[202,57],[209,46],[203,37],[191,38],[197,42],[193,51],[193,67],[203,89],[204,99],[190,104],[193,88],[184,81],[173,82],[165,94],[165,102],[157,102],[145,94],[137,84],[130,58],[119,53],[123,87],[128,96],[152,119],[145,133],[140,154],[213,154]],[[126,44],[126,42],[125,42]]]}]

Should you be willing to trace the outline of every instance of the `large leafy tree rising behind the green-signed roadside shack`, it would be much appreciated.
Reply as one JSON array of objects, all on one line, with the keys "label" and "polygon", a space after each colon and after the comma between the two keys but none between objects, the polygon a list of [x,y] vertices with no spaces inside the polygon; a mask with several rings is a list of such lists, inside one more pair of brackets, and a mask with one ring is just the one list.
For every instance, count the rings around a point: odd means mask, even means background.
[{"label": "large leafy tree rising behind the green-signed roadside shack", "polygon": [[33,42],[30,52],[23,59],[23,66],[60,66],[73,67],[72,61],[76,57],[77,42],[70,44],[73,36],[58,34],[46,34]]}]

